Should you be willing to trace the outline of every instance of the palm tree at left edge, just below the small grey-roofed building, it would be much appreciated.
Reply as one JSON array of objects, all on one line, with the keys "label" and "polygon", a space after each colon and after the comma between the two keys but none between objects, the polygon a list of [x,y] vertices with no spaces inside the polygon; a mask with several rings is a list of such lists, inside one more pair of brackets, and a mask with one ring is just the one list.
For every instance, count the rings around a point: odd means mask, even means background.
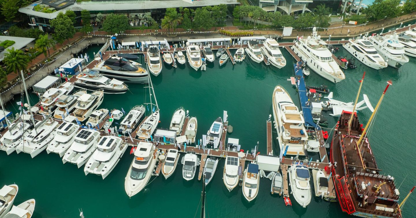
[{"label": "palm tree at left edge, just below the small grey-roofed building", "polygon": [[15,50],[15,48],[12,47],[6,50],[3,61],[6,64],[7,72],[15,72],[16,74],[19,74],[21,70],[27,69],[29,57],[27,57],[22,50]]}]

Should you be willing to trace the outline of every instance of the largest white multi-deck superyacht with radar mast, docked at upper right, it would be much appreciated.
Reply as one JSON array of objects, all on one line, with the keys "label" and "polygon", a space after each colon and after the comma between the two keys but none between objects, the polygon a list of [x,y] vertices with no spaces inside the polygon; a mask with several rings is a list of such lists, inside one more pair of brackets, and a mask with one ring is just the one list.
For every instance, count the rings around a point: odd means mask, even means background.
[{"label": "largest white multi-deck superyacht with radar mast, docked at upper right", "polygon": [[307,62],[314,72],[337,83],[345,79],[344,72],[332,58],[332,53],[327,48],[327,43],[318,36],[316,27],[313,28],[312,37],[298,38],[293,44],[292,50],[304,62]]}]

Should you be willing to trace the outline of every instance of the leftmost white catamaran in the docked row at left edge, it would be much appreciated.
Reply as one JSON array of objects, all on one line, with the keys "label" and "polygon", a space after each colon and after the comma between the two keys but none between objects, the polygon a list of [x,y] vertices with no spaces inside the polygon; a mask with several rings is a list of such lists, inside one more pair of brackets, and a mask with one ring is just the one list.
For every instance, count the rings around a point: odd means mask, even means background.
[{"label": "leftmost white catamaran in the docked row at left edge", "polygon": [[[25,120],[25,116],[27,119]],[[0,139],[0,150],[6,151],[7,155],[16,151],[16,147],[22,142],[25,131],[30,131],[33,128],[30,115],[24,114],[20,121],[16,121],[9,126],[9,129]],[[27,134],[27,133],[26,133]],[[25,134],[25,135],[26,135]]]}]

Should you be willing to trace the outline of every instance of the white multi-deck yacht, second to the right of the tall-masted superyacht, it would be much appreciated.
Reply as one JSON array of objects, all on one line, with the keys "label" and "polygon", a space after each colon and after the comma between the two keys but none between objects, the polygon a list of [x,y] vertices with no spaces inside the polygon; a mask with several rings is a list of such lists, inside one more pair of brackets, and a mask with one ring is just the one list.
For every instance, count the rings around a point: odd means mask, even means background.
[{"label": "white multi-deck yacht, second to the right of the tall-masted superyacht", "polygon": [[399,68],[401,65],[409,62],[409,57],[404,55],[404,45],[398,40],[398,35],[394,37],[390,35],[389,38],[376,35],[370,38],[374,43],[374,48],[379,52],[381,57],[387,60],[387,64],[391,67]]}]

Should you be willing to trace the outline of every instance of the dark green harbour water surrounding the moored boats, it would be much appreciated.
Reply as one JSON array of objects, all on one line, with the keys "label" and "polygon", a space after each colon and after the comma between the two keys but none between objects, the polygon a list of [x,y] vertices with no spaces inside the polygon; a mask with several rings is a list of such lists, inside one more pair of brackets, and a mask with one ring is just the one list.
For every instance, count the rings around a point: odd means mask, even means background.
[{"label": "dark green harbour water surrounding the moored boats", "polygon": [[[93,46],[88,49],[90,57],[98,48]],[[209,63],[205,72],[196,72],[188,64],[179,65],[176,69],[163,65],[162,73],[151,77],[161,111],[158,128],[168,128],[173,112],[178,107],[184,107],[189,110],[190,116],[197,117],[197,137],[200,139],[226,110],[229,124],[233,126],[233,133],[227,134],[227,138],[240,139],[244,150],[254,148],[258,142],[259,151],[265,154],[266,120],[272,114],[274,87],[277,84],[285,87],[295,104],[299,105],[296,89],[287,81],[294,75],[292,57],[286,50],[282,49],[282,52],[288,62],[282,69],[255,63],[249,57],[242,63],[232,65],[228,62],[222,67],[219,67],[217,60]],[[336,55],[351,57],[342,48]],[[139,61],[144,64],[143,57]],[[369,139],[377,164],[383,169],[381,172],[395,177],[402,200],[416,179],[413,156],[416,143],[412,136],[416,117],[415,59],[410,58],[410,62],[399,70],[391,67],[374,70],[358,60],[355,63],[357,69],[345,70],[347,78],[338,84],[332,84],[314,72],[305,80],[307,85],[312,86],[326,84],[334,92],[334,99],[351,102],[357,94],[358,81],[366,71],[362,94],[368,95],[373,106],[381,96],[386,81],[393,81],[370,129]],[[105,94],[100,108],[129,111],[149,99],[143,85],[129,84],[129,88],[130,92],[126,94]],[[36,98],[31,96],[33,102],[38,100]],[[7,108],[17,111],[15,103],[7,104]],[[370,115],[368,109],[359,112],[364,124]],[[328,115],[327,119],[329,128],[332,128],[337,118]],[[274,148],[276,145],[275,140]],[[276,149],[275,154],[279,154]],[[143,191],[129,198],[124,191],[124,178],[132,158],[126,151],[116,168],[102,180],[92,174],[85,176],[83,167],[78,169],[72,164],[62,164],[58,155],[47,155],[46,151],[34,159],[28,154],[7,156],[5,152],[0,152],[0,185],[16,183],[19,186],[16,205],[35,198],[34,217],[38,218],[79,217],[79,208],[84,211],[85,218],[199,216],[202,183],[197,178],[185,181],[181,176],[181,165],[168,180],[163,176],[152,177]],[[270,194],[271,181],[265,178],[260,179],[257,198],[248,203],[239,186],[231,192],[225,188],[223,166],[224,159],[221,159],[213,181],[206,188],[208,217],[348,217],[341,212],[338,203],[328,203],[320,198],[313,198],[307,208],[302,208],[292,197],[293,207],[287,208],[282,197]],[[415,216],[415,202],[416,196],[410,196],[404,206],[404,217]]]}]

